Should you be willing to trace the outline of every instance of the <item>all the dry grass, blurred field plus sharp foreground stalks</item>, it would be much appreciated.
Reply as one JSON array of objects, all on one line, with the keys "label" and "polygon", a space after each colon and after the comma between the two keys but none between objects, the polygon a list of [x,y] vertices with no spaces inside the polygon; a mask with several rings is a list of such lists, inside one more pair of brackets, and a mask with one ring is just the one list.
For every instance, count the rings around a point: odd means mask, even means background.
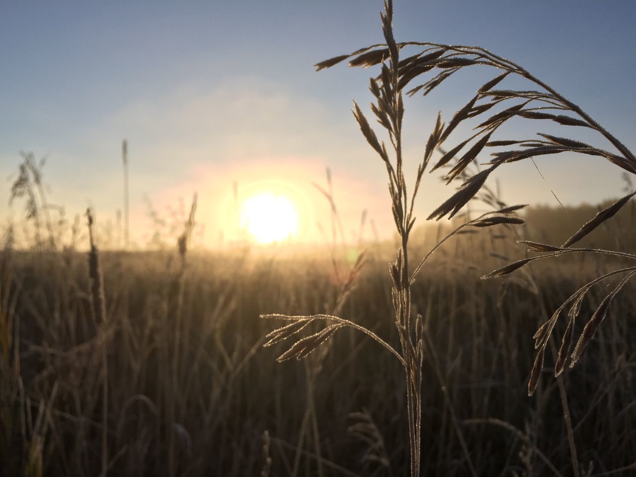
[{"label": "all the dry grass, blurred field plus sharp foreground stalks", "polygon": [[[328,187],[317,186],[332,210],[328,259],[247,252],[191,259],[195,197],[168,253],[98,252],[89,211],[86,260],[74,251],[78,226],[68,244],[55,230],[43,162],[23,156],[11,199],[26,199],[35,246],[15,251],[10,233],[0,257],[1,475],[600,476],[636,468],[636,328],[617,318],[636,309],[632,295],[619,294],[636,275],[636,266],[624,265],[636,255],[588,246],[608,219],[633,208],[634,194],[553,245],[521,227],[516,212],[525,206],[506,205],[487,184],[498,167],[538,155],[598,156],[629,174],[636,158],[583,109],[509,60],[483,48],[396,42],[392,15],[388,1],[384,44],[317,69],[346,59],[380,67],[370,91],[383,134],[356,103],[354,116],[387,170],[397,250],[369,245],[354,263],[343,260],[328,172]],[[417,52],[405,57],[408,48]],[[476,65],[502,73],[448,124],[438,116],[409,183],[403,91],[430,93]],[[434,76],[411,88],[424,74]],[[539,90],[494,89],[511,75]],[[440,227],[436,240],[414,240],[413,204],[435,151],[462,121],[498,109],[431,168],[462,185],[429,218],[456,222]],[[495,139],[514,117],[589,129],[616,152],[550,134]],[[475,166],[486,148],[508,146],[521,149],[493,153],[487,169]],[[122,153],[127,182],[126,142]],[[125,186],[125,242],[127,194]],[[463,209],[474,198],[492,211],[471,218]],[[363,212],[361,229],[365,219]],[[573,247],[581,240],[585,246]],[[492,268],[484,278],[501,281],[478,280]],[[272,329],[256,319],[262,310],[277,310],[261,317],[285,324]],[[591,318],[570,355],[581,314]],[[528,338],[537,326],[533,346]],[[595,352],[583,354],[593,336]],[[289,338],[296,342],[280,354]],[[378,354],[377,344],[388,352]],[[263,346],[278,361],[295,357],[304,366],[275,363]],[[553,368],[544,364],[548,347]],[[569,356],[576,373],[567,373]],[[556,380],[542,382],[546,372]],[[521,391],[527,383],[533,399]],[[355,422],[347,425],[347,416]]]}]

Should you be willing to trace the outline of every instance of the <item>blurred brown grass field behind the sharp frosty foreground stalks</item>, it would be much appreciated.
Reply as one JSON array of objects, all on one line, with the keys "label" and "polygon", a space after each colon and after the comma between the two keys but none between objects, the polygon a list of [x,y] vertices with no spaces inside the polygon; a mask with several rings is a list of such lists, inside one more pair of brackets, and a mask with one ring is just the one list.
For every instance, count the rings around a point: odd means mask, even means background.
[{"label": "blurred brown grass field behind the sharp frosty foreground stalks", "polygon": [[[612,264],[561,258],[480,280],[501,265],[486,245],[523,252],[509,242],[460,236],[413,285],[429,338],[422,473],[567,476],[574,447],[582,474],[628,474],[633,294],[619,296],[574,370],[555,379],[548,352],[528,397],[537,326]],[[340,315],[396,345],[391,246],[366,249]],[[414,242],[414,254],[424,249]],[[259,314],[333,310],[342,282],[332,257],[342,281],[350,264],[328,247],[282,257],[191,251],[184,265],[176,249],[102,252],[106,320],[98,324],[86,254],[5,248],[3,331],[15,342],[3,344],[3,475],[406,474],[404,378],[391,354],[354,329],[301,362],[277,363],[286,348],[262,347],[274,324]],[[581,314],[598,300],[592,294]]]}]

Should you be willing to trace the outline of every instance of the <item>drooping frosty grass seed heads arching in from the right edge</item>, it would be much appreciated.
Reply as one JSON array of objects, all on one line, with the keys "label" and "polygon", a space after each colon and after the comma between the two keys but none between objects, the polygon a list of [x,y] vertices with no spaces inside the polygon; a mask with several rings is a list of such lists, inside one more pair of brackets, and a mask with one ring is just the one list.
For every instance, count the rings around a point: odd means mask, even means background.
[{"label": "drooping frosty grass seed heads arching in from the right edge", "polygon": [[[386,31],[386,27],[384,25],[383,29]],[[508,106],[506,109],[502,109],[502,111],[492,114],[492,116],[489,116],[478,124],[475,128],[477,131],[473,135],[459,142],[459,144],[454,146],[452,149],[445,151],[436,165],[431,169],[432,172],[439,167],[447,165],[453,160],[453,158],[455,158],[455,156],[459,155],[460,151],[466,149],[472,142],[473,145],[467,149],[462,156],[457,158],[452,169],[450,169],[450,171],[445,175],[448,183],[451,183],[454,179],[461,179],[463,181],[462,185],[459,190],[452,195],[452,197],[448,198],[448,200],[446,200],[443,204],[439,205],[439,207],[429,215],[429,219],[439,220],[445,216],[452,218],[455,214],[462,210],[464,205],[468,204],[469,200],[475,197],[481,188],[483,188],[488,176],[490,176],[495,169],[504,164],[525,159],[530,159],[534,163],[534,157],[536,156],[555,155],[566,152],[597,156],[599,158],[609,160],[609,162],[627,171],[628,174],[636,174],[636,156],[632,153],[632,151],[630,151],[630,149],[626,148],[619,139],[591,118],[591,116],[581,107],[574,104],[574,102],[570,101],[562,94],[556,92],[556,90],[551,88],[551,86],[541,81],[541,79],[536,78],[536,76],[518,64],[478,46],[440,45],[438,43],[422,43],[413,41],[401,42],[398,44],[392,39],[392,37],[389,38],[386,35],[385,40],[386,43],[384,45],[372,45],[368,48],[362,48],[350,55],[341,55],[331,60],[321,62],[317,65],[317,67],[318,69],[331,67],[338,62],[349,58],[352,58],[349,61],[350,66],[369,67],[382,64],[383,74],[378,76],[378,78],[381,78],[382,83],[384,84],[387,79],[384,76],[385,60],[389,58],[391,61],[397,59],[397,54],[402,49],[416,48],[417,52],[414,55],[410,55],[396,66],[395,83],[399,86],[400,92],[403,88],[409,86],[410,89],[406,92],[408,95],[415,95],[416,93],[422,92],[424,95],[427,95],[453,74],[472,66],[487,66],[503,72],[478,88],[473,98],[453,115],[452,120],[449,121],[448,125],[441,124],[441,120],[438,118],[438,122],[431,134],[431,137],[429,138],[429,142],[427,143],[427,152],[431,151],[432,148],[441,147],[453,130],[455,130],[455,128],[457,128],[457,126],[459,126],[463,121],[471,120],[478,116],[482,116],[483,119],[483,116],[485,116],[485,113],[488,111],[492,113],[492,110],[496,110],[497,107]],[[418,86],[410,87],[412,81],[427,74],[434,74],[434,76]],[[520,76],[539,89],[494,89],[495,86],[499,85],[499,83],[508,78],[508,76]],[[516,102],[516,104],[509,106],[513,102]],[[382,123],[385,119],[384,116],[382,116],[382,114],[378,114],[377,109],[374,109],[374,113],[377,114],[378,121]],[[596,135],[600,135],[603,139],[605,139],[605,141],[609,142],[614,149],[616,149],[616,152],[607,151],[576,139],[558,137],[541,132],[537,133],[537,137],[532,137],[530,139],[491,140],[494,133],[512,118],[527,118],[534,121],[553,121],[559,125],[570,128],[584,128],[585,130],[590,130],[590,133],[593,132]],[[373,138],[368,139],[371,142]],[[492,153],[492,159],[490,162],[486,163],[486,165],[488,165],[487,169],[481,170],[477,174],[474,174],[474,176],[467,178],[462,174],[466,167],[476,160],[477,156],[481,153],[481,151],[483,151],[483,149],[508,148],[508,146],[520,146],[522,149],[504,150]],[[427,152],[425,152],[425,155]],[[534,163],[534,165],[536,166],[536,163]],[[594,218],[584,223],[584,225],[581,226],[574,235],[560,246],[540,244],[532,241],[523,242],[524,245],[528,245],[530,247],[530,252],[537,252],[539,255],[506,265],[492,273],[489,273],[488,275],[485,275],[484,278],[501,277],[518,270],[518,268],[521,268],[536,259],[562,256],[563,254],[572,252],[620,256],[621,258],[626,259],[626,261],[636,259],[636,256],[633,254],[625,252],[572,247],[572,245],[586,237],[586,235],[595,230],[595,228],[604,223],[604,221],[612,218],[625,204],[628,204],[635,194],[636,193],[630,192],[614,204],[598,212]],[[568,359],[570,348],[572,347],[574,322],[579,314],[578,304],[580,301],[584,299],[586,294],[593,286],[595,286],[595,284],[604,282],[607,278],[616,277],[616,275],[623,275],[623,279],[621,279],[618,285],[605,296],[604,301],[602,301],[601,305],[599,305],[584,327],[581,335],[579,336],[579,340],[574,347],[574,352],[572,352],[570,366],[574,366],[574,364],[576,364],[576,361],[581,356],[581,352],[584,347],[595,335],[598,325],[603,321],[607,314],[607,309],[609,308],[609,305],[611,305],[612,300],[614,300],[616,294],[623,289],[625,284],[633,277],[634,274],[633,267],[628,266],[615,270],[603,277],[598,277],[598,280],[588,282],[585,286],[581,287],[581,289],[577,290],[576,293],[570,296],[570,298],[563,303],[562,307],[558,308],[555,314],[537,330],[534,338],[537,340],[536,348],[538,351],[536,361],[533,366],[533,373],[529,382],[530,395],[532,395],[536,389],[537,379],[539,378],[539,373],[541,373],[541,369],[543,368],[544,351],[548,345],[551,332],[553,331],[554,324],[558,319],[560,312],[562,312],[567,305],[573,303],[568,314],[570,318],[569,325],[562,339],[562,344],[558,352],[559,356],[556,358],[556,376],[562,373],[563,367]]]}]

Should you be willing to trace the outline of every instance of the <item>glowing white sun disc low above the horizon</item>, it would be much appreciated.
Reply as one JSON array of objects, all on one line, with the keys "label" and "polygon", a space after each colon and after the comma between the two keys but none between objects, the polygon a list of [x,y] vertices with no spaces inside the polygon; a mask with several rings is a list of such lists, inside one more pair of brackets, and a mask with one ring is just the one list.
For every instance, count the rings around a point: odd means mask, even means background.
[{"label": "glowing white sun disc low above the horizon", "polygon": [[295,237],[298,223],[298,209],[284,195],[261,192],[246,198],[241,205],[240,226],[259,244]]}]

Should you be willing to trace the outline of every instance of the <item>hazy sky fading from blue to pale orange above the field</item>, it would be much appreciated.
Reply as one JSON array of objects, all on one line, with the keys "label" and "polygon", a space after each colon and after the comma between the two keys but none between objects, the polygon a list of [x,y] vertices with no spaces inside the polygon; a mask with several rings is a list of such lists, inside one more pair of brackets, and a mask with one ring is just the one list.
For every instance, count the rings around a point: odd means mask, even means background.
[{"label": "hazy sky fading from blue to pale orange above the field", "polygon": [[[397,41],[484,46],[521,64],[636,149],[636,2],[394,5]],[[20,151],[46,158],[48,200],[63,205],[68,217],[90,206],[98,223],[113,224],[123,206],[121,141],[127,139],[137,245],[151,238],[149,204],[158,216],[180,220],[178,211],[189,208],[195,192],[197,221],[205,225],[201,242],[236,239],[234,183],[239,199],[257,190],[285,191],[300,210],[299,237],[319,240],[321,226],[330,227],[329,204],[313,183],[326,187],[326,168],[345,235],[355,235],[364,209],[378,234],[390,235],[385,169],[350,113],[352,99],[370,103],[373,71],[312,67],[383,41],[381,8],[375,0],[4,1],[3,224],[24,222],[24,203],[8,205]],[[406,102],[411,177],[438,111],[448,120],[493,76],[459,75]],[[528,136],[536,128],[526,121],[508,132]],[[602,138],[595,144],[611,148]],[[563,204],[621,195],[621,170],[600,158],[546,157],[536,161],[545,180],[532,163],[492,177],[506,202],[556,205],[550,190]],[[427,175],[418,220],[451,193],[439,176]]]}]

